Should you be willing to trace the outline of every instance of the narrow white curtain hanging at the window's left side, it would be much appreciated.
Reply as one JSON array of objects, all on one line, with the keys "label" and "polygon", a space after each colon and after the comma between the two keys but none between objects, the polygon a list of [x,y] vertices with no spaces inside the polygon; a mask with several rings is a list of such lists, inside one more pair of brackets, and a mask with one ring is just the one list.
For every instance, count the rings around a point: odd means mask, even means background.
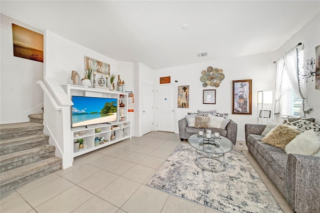
[{"label": "narrow white curtain hanging at the window's left side", "polygon": [[284,60],[283,60],[283,57],[281,57],[276,61],[276,69],[275,69],[274,114],[280,113],[281,81],[282,81],[283,68],[284,68]]}]

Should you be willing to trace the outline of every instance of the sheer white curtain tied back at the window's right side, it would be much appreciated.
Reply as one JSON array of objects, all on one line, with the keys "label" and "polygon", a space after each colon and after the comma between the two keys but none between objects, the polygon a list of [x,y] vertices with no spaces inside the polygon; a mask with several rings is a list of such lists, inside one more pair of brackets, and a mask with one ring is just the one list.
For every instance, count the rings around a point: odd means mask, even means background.
[{"label": "sheer white curtain tied back at the window's right side", "polygon": [[[299,95],[303,102],[300,107],[300,115],[305,116],[305,108],[310,109],[311,107],[308,105],[307,101],[307,95],[305,90],[305,85],[301,79],[299,81],[298,77],[298,70],[297,70],[297,48],[293,48],[291,51],[289,51],[286,55],[284,55],[284,66],[286,68],[286,71],[288,73],[288,77],[290,79],[290,82],[292,84],[292,87],[297,95]],[[301,63],[301,62],[299,62]],[[303,63],[303,62],[302,62]],[[302,73],[302,70],[300,70]]]}]

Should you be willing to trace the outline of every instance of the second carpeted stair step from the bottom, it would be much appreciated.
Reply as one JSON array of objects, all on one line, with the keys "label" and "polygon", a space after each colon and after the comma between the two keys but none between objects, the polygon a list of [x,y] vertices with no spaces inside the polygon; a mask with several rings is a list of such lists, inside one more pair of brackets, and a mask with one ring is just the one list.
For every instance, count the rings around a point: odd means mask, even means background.
[{"label": "second carpeted stair step from the bottom", "polygon": [[0,172],[5,172],[45,158],[54,156],[55,147],[44,145],[3,155],[0,158]]}]

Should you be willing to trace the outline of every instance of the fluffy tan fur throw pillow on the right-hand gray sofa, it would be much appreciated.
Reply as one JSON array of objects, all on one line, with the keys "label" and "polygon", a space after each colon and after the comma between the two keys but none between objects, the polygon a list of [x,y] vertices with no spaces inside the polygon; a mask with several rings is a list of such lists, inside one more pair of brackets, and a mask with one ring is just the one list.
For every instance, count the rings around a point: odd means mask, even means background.
[{"label": "fluffy tan fur throw pillow on the right-hand gray sofa", "polygon": [[293,126],[280,124],[266,134],[261,141],[266,144],[284,149],[285,145],[287,145],[299,133],[300,132]]}]

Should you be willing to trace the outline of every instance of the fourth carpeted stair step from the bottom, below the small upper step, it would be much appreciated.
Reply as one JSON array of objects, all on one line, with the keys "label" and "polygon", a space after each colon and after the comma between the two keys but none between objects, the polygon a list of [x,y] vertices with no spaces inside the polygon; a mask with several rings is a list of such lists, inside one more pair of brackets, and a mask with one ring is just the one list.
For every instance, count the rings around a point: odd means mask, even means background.
[{"label": "fourth carpeted stair step from the bottom, below the small upper step", "polygon": [[43,124],[33,122],[21,122],[0,125],[0,140],[17,137],[38,135],[43,133]]}]

